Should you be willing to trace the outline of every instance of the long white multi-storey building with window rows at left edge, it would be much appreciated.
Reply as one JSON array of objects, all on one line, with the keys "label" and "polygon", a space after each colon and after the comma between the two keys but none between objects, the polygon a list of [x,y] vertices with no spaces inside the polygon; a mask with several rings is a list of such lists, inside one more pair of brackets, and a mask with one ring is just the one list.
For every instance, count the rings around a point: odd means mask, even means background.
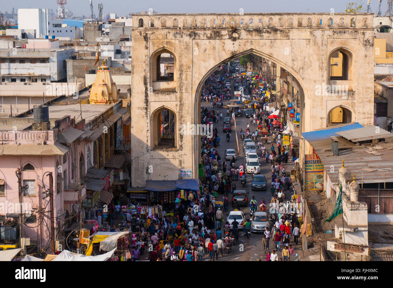
[{"label": "long white multi-storey building with window rows at left edge", "polygon": [[[37,45],[41,43],[37,42]],[[73,49],[2,49],[0,51],[2,81],[9,83],[60,81],[67,77],[66,59],[73,53]]]}]

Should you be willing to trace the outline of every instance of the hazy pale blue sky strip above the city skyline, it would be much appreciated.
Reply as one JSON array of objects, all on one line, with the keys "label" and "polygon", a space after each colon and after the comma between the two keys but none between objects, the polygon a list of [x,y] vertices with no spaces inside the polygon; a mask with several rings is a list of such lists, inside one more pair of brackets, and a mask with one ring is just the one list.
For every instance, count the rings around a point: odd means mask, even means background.
[{"label": "hazy pale blue sky strip above the city skyline", "polygon": [[[351,0],[355,2],[356,0]],[[274,13],[274,12],[330,12],[331,8],[335,12],[344,12],[345,5],[350,0],[260,0],[260,1],[239,1],[239,0],[93,0],[94,13],[98,14],[98,4],[103,3],[103,13],[117,13],[118,16],[125,16],[130,12],[148,11],[152,8],[159,13],[238,13],[239,9],[244,9],[244,13]],[[363,2],[364,11],[367,0]],[[382,0],[382,15],[387,9],[387,0]],[[371,11],[378,9],[378,0],[371,0]],[[0,11],[10,12],[12,7],[17,8],[49,8],[57,9],[56,0],[4,0],[0,6]],[[89,0],[68,0],[66,9],[74,15],[90,15]]]}]

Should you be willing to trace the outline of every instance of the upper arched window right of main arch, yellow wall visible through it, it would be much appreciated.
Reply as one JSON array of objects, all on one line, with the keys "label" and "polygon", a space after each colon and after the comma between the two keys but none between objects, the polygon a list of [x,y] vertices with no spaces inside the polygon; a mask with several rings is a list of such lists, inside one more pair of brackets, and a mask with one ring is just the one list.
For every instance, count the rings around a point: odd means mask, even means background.
[{"label": "upper arched window right of main arch, yellow wall visible through it", "polygon": [[329,57],[329,80],[353,80],[352,58],[352,53],[345,49],[334,50]]}]

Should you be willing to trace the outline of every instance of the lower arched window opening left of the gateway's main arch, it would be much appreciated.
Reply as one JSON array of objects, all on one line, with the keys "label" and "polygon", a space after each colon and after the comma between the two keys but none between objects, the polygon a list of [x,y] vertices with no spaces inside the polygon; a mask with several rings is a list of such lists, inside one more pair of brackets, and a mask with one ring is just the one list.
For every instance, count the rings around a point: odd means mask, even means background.
[{"label": "lower arched window opening left of the gateway's main arch", "polygon": [[176,114],[168,108],[160,108],[152,117],[153,149],[174,149],[177,147]]}]

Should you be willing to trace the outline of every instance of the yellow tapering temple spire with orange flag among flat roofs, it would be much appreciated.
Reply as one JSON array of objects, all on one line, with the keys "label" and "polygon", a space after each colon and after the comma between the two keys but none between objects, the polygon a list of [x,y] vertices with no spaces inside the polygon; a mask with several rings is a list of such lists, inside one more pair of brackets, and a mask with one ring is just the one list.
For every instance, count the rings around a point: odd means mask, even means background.
[{"label": "yellow tapering temple spire with orange flag among flat roofs", "polygon": [[103,61],[98,68],[97,76],[90,89],[90,104],[112,104],[117,102],[118,99],[116,83],[112,80],[109,67]]}]

